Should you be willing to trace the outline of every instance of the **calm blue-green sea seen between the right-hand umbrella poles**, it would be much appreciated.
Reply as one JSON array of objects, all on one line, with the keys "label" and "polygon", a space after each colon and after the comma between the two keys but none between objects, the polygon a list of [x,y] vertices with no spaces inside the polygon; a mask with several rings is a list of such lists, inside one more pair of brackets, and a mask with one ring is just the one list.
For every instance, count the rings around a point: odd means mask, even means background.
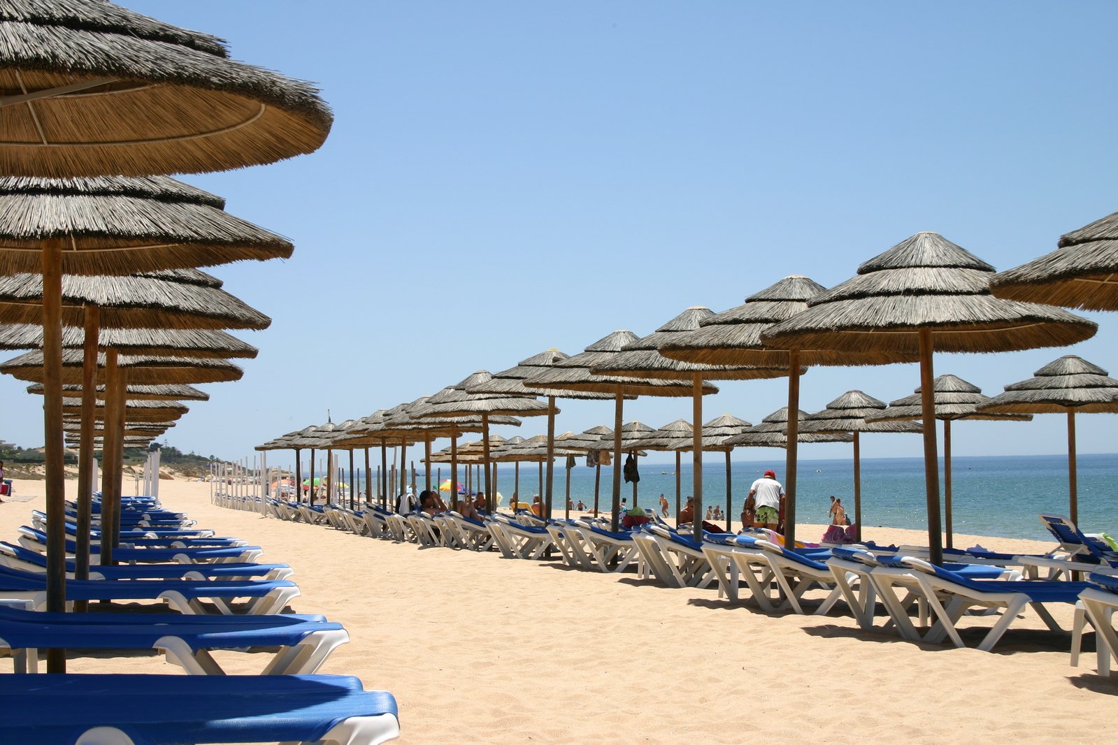
[{"label": "calm blue-green sea seen between the right-hand umbrella poles", "polygon": [[[686,456],[685,456],[686,457]],[[585,459],[570,471],[570,495],[577,504],[594,502],[594,469]],[[566,469],[560,459],[555,469],[555,506],[562,508]],[[736,460],[731,464],[735,522],[754,479],[773,468],[784,481],[784,456],[767,461]],[[601,469],[600,499],[609,503],[612,469]],[[638,504],[652,506],[663,493],[675,513],[675,465],[641,462]],[[540,490],[538,467],[520,467],[520,498],[531,502]],[[956,533],[978,535],[1048,538],[1036,516],[1041,513],[1067,515],[1067,456],[959,457],[951,459],[953,514]],[[512,495],[514,469],[511,464],[498,468],[498,490]],[[830,495],[841,497],[847,512],[854,512],[853,460],[803,460],[797,469],[797,520],[826,523]],[[442,477],[448,478],[449,467],[443,465]],[[680,468],[682,494],[691,494],[691,464]],[[433,471],[434,478],[434,471]],[[459,466],[458,480],[465,483],[465,469]],[[419,475],[423,488],[423,471]],[[477,476],[474,475],[476,489]],[[942,488],[942,468],[940,468]],[[633,487],[622,483],[622,496],[633,502]],[[703,502],[726,505],[726,467],[708,462],[703,467]],[[927,528],[925,510],[923,460],[920,458],[874,458],[862,460],[862,518],[868,526],[884,525]],[[1079,524],[1089,533],[1118,534],[1118,455],[1079,457]]]}]

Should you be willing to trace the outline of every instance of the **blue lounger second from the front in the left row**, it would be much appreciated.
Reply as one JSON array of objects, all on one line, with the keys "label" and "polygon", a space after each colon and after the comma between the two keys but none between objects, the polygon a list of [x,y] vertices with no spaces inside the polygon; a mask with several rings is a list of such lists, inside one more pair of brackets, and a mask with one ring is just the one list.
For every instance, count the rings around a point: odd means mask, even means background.
[{"label": "blue lounger second from the front in the left row", "polygon": [[347,641],[340,623],[321,617],[44,613],[0,606],[0,648],[12,652],[16,672],[37,672],[41,649],[158,649],[191,675],[225,675],[209,650],[267,647],[276,649],[262,675],[311,674]]}]

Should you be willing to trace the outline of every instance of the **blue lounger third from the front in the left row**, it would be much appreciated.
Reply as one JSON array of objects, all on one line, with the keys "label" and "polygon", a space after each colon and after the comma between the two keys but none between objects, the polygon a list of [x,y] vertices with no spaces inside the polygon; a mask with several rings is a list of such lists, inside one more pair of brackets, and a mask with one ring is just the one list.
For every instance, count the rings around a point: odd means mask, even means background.
[{"label": "blue lounger third from the front in the left row", "polygon": [[[206,613],[201,600],[212,602],[224,615],[233,615],[231,601],[248,599],[244,610],[247,613],[278,613],[300,594],[299,585],[290,580],[266,582],[228,582],[205,580],[67,580],[66,602],[75,600],[114,601],[149,600],[164,601],[180,613]],[[47,602],[47,579],[45,574],[21,572],[10,566],[0,566],[0,598],[18,598],[31,601],[34,608]]]}]

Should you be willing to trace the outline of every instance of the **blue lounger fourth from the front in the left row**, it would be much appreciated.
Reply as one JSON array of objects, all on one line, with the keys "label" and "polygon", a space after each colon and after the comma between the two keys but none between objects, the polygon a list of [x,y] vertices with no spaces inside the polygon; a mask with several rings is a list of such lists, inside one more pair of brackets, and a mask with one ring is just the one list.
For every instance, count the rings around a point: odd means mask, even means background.
[{"label": "blue lounger fourth from the front in the left row", "polygon": [[[45,572],[47,557],[37,551],[0,541],[0,565],[25,572]],[[77,571],[74,560],[66,560],[66,573]],[[91,580],[287,580],[295,571],[287,564],[94,564]],[[73,577],[72,577],[73,579]]]}]

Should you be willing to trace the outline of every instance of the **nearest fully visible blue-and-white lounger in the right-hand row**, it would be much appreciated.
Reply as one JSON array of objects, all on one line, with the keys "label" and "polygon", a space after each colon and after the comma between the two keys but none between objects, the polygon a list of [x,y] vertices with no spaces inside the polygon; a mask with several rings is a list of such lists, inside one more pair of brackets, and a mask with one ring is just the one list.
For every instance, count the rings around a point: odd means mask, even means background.
[{"label": "nearest fully visible blue-and-white lounger in the right-hand row", "polygon": [[[879,557],[879,561],[882,566],[874,569],[872,576],[893,622],[906,638],[919,639],[920,636],[907,612],[897,602],[898,588],[919,593],[928,603],[936,622],[923,636],[923,640],[931,643],[940,643],[948,638],[956,647],[964,647],[957,624],[968,609],[1001,611],[998,621],[977,646],[982,651],[994,648],[1025,605],[1031,605],[1049,629],[1063,631],[1044,605],[1074,605],[1079,593],[1089,586],[1084,582],[974,580],[963,573],[908,556]],[[947,601],[946,606],[944,600]]]}]

